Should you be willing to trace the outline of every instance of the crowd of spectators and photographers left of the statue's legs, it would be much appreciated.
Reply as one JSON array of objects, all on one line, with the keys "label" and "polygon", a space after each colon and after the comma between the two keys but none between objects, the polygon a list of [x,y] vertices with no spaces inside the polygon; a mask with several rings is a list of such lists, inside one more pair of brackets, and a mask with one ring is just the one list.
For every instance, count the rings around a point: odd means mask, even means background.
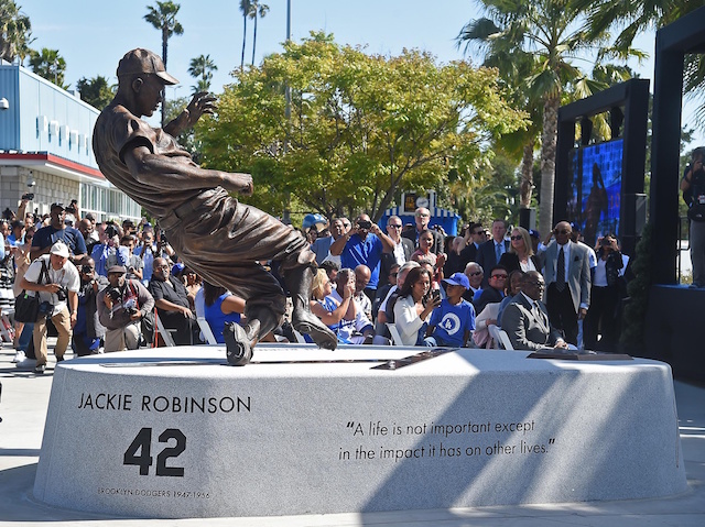
[{"label": "crowd of spectators and photographers left of the statue's legs", "polygon": [[224,323],[240,321],[245,301],[203,282],[145,218],[97,222],[77,201],[41,217],[28,204],[0,223],[0,307],[13,314],[18,296],[39,298],[35,321],[8,328],[19,367],[44,373],[51,334],[61,362],[69,347],[83,356],[163,344],[156,317],[176,344],[203,341],[197,314],[219,342]]}]

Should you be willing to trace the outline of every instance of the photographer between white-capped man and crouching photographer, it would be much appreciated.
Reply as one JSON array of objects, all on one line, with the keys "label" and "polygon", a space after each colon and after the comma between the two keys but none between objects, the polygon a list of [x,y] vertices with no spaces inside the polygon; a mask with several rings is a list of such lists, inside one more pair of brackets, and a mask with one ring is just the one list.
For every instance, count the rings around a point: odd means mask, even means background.
[{"label": "photographer between white-capped man and crouching photographer", "polygon": [[72,349],[78,356],[100,352],[106,328],[98,319],[98,293],[108,286],[108,278],[96,273],[96,263],[85,256],[78,266],[80,289],[78,289],[78,316],[74,326]]}]

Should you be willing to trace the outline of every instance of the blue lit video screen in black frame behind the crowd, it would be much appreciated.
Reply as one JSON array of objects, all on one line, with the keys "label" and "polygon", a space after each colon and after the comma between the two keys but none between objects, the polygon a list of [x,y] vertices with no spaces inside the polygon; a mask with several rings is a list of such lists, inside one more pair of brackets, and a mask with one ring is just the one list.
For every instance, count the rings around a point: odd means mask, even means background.
[{"label": "blue lit video screen in black frame behind the crowd", "polygon": [[589,246],[605,233],[620,234],[622,153],[622,139],[571,150],[567,217]]}]

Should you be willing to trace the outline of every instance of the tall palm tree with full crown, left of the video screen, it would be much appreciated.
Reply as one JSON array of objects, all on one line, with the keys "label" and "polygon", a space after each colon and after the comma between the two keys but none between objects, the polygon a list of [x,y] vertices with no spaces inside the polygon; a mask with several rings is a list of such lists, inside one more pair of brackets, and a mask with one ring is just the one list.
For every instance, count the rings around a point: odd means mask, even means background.
[{"label": "tall palm tree with full crown, left of the video screen", "polygon": [[[470,21],[458,35],[460,42],[475,39],[482,28],[488,41],[500,41],[503,53],[525,53],[531,68],[524,77],[529,100],[541,101],[541,191],[539,229],[545,234],[553,224],[553,191],[558,107],[565,87],[584,79],[571,59],[604,41],[601,32],[590,35],[582,29],[584,11],[579,0],[482,0],[487,17]],[[523,63],[522,63],[523,64]],[[527,107],[530,110],[530,107]],[[524,176],[525,177],[525,176]],[[525,195],[525,193],[524,193]],[[522,199],[523,201],[523,199]]]}]

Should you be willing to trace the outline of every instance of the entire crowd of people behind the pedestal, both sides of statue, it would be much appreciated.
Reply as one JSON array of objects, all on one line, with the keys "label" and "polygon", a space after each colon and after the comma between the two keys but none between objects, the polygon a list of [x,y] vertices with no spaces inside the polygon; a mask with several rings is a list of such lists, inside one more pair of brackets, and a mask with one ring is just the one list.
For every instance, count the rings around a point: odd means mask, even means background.
[{"label": "entire crowd of people behind the pedestal, both sides of statue", "polygon": [[[18,366],[44,372],[50,331],[62,361],[69,345],[77,356],[159,345],[155,317],[176,345],[203,342],[198,317],[220,343],[227,323],[243,323],[245,299],[186,267],[147,219],[97,222],[76,201],[45,217],[26,206],[0,223],[3,307],[21,294],[41,306],[34,323],[14,322]],[[318,266],[311,312],[340,344],[489,348],[495,325],[514,349],[616,350],[629,259],[612,234],[589,248],[565,221],[542,242],[502,219],[457,237],[431,228],[425,208],[414,220],[391,216],[383,231],[365,213],[306,217]],[[285,321],[262,340],[294,339]]]}]

